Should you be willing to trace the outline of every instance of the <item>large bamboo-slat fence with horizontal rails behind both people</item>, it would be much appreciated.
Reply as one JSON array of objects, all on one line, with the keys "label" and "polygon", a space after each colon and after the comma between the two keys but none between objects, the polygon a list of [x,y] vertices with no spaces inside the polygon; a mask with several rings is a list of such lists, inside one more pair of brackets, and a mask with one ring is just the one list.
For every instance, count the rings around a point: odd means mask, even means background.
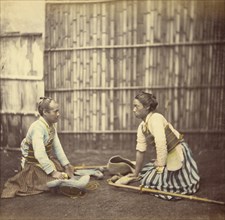
[{"label": "large bamboo-slat fence with horizontal rails behind both people", "polygon": [[61,136],[134,145],[141,90],[180,131],[224,134],[224,15],[223,1],[47,1],[45,91]]}]

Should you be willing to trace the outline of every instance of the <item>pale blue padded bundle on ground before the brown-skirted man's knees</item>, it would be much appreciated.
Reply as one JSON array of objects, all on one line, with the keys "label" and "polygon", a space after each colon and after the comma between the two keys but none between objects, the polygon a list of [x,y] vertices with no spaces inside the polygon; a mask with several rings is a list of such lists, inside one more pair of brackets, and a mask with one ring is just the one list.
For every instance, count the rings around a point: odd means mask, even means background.
[{"label": "pale blue padded bundle on ground before the brown-skirted man's knees", "polygon": [[62,179],[62,180],[52,180],[50,182],[47,182],[47,186],[49,188],[52,187],[74,187],[78,189],[84,189],[86,185],[89,183],[90,176],[89,175],[84,175],[80,177],[79,179],[76,178],[71,178],[71,179]]}]

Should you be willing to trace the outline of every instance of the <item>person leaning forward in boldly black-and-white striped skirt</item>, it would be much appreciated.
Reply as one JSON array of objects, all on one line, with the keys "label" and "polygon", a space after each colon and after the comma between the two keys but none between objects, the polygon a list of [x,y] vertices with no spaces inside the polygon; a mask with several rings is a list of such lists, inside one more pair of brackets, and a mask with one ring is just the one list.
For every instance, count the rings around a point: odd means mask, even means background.
[{"label": "person leaning forward in boldly black-and-white striped skirt", "polygon": [[[155,111],[158,102],[154,95],[141,92],[134,99],[134,114],[142,119],[137,131],[136,169],[146,188],[193,194],[199,188],[199,174],[192,152],[182,135]],[[156,160],[143,167],[147,146],[155,147]],[[171,200],[172,196],[156,194]]]}]

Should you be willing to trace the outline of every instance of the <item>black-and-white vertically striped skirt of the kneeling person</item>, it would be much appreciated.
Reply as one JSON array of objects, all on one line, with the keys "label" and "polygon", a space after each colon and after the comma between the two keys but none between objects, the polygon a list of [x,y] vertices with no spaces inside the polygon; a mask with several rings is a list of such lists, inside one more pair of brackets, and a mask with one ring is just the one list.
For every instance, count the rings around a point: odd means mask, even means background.
[{"label": "black-and-white vertically striped skirt of the kneeling person", "polygon": [[[188,145],[182,143],[184,161],[181,169],[177,171],[168,171],[165,167],[163,173],[157,173],[153,163],[146,164],[141,171],[141,184],[145,188],[178,193],[193,194],[199,189],[200,177],[196,162],[192,157],[192,152]],[[178,197],[154,194],[156,197],[165,200],[175,200]]]}]

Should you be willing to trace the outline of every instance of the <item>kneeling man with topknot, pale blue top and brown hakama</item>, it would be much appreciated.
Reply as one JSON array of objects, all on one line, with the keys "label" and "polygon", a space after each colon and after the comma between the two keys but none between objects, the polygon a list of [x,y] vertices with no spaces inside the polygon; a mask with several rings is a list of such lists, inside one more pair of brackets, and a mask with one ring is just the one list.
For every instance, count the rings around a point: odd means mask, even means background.
[{"label": "kneeling man with topknot, pale blue top and brown hakama", "polygon": [[52,98],[43,97],[38,112],[40,118],[31,124],[21,143],[22,170],[5,183],[1,198],[39,194],[49,190],[47,182],[73,177],[74,168],[54,127],[59,118],[59,105]]}]

